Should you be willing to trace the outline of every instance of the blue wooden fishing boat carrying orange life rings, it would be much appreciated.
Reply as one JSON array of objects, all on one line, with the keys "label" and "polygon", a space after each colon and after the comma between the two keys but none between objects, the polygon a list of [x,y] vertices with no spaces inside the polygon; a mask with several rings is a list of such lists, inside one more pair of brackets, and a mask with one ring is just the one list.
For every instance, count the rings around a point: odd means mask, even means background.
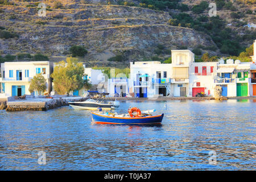
[{"label": "blue wooden fishing boat carrying orange life rings", "polygon": [[[134,113],[137,111],[137,114]],[[97,124],[128,124],[128,125],[158,125],[162,122],[164,114],[151,115],[153,110],[140,111],[137,107],[129,109],[128,114],[92,112],[92,122]],[[155,110],[154,110],[155,111]]]}]

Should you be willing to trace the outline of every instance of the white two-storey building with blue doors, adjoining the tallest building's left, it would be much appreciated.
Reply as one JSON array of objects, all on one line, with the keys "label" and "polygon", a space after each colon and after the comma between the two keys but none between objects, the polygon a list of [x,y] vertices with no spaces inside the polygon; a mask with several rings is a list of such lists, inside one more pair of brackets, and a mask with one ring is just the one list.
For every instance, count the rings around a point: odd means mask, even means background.
[{"label": "white two-storey building with blue doors, adjoining the tallest building's left", "polygon": [[129,94],[134,97],[167,96],[171,92],[171,67],[159,61],[131,62]]}]

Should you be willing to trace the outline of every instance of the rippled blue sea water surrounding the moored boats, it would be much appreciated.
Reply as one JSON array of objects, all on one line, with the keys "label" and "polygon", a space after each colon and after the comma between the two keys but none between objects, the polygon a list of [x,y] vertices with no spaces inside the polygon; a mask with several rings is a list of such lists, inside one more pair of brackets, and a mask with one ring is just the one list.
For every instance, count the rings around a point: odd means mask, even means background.
[{"label": "rippled blue sea water surrounding the moored boats", "polygon": [[[160,126],[92,125],[90,112],[0,111],[2,170],[256,169],[256,100],[126,101],[164,113]],[[46,152],[46,165],[38,152]],[[215,151],[217,164],[209,164]]]}]

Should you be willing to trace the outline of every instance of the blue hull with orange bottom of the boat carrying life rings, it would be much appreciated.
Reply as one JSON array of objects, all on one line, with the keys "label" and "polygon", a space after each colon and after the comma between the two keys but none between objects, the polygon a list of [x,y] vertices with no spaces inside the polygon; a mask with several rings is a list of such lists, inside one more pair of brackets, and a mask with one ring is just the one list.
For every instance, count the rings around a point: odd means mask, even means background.
[{"label": "blue hull with orange bottom of the boat carrying life rings", "polygon": [[92,112],[92,122],[97,124],[159,125],[164,114],[139,118],[109,117]]}]

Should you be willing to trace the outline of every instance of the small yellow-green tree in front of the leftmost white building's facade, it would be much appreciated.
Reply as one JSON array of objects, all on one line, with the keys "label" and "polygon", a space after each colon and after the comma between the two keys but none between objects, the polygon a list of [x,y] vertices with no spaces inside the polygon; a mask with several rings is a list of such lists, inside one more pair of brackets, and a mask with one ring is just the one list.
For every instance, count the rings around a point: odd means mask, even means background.
[{"label": "small yellow-green tree in front of the leftmost white building's facade", "polygon": [[30,93],[38,91],[43,93],[46,91],[46,79],[43,77],[42,73],[36,74],[30,81],[30,88],[28,88]]}]

